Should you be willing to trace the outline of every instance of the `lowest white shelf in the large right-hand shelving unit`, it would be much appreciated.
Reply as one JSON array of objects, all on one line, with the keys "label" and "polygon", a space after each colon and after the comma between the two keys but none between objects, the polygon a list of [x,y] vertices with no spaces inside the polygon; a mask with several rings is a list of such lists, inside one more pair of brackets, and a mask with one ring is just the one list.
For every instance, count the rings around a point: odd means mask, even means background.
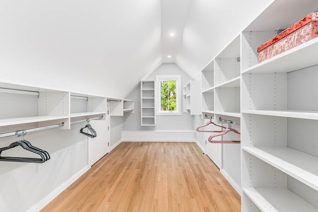
[{"label": "lowest white shelf in the large right-hand shelving unit", "polygon": [[288,189],[243,188],[262,212],[318,212],[318,209]]}]

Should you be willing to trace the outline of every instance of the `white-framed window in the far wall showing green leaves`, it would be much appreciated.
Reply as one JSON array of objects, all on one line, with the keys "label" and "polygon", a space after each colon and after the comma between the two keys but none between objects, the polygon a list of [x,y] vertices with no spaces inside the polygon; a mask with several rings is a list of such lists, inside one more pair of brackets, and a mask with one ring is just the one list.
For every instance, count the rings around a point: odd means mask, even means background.
[{"label": "white-framed window in the far wall showing green leaves", "polygon": [[181,115],[181,75],[156,76],[157,115]]}]

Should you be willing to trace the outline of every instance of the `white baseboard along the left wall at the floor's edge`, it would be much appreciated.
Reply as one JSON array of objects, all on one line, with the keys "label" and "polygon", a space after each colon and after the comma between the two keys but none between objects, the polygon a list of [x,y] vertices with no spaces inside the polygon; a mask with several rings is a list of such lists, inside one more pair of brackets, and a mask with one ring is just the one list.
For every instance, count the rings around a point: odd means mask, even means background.
[{"label": "white baseboard along the left wall at the floor's edge", "polygon": [[53,192],[51,192],[48,196],[46,196],[44,199],[42,199],[35,206],[30,208],[27,212],[39,212],[40,210],[42,210],[46,205],[48,205],[52,200],[54,200],[54,198],[56,198],[65,189],[67,189],[70,185],[72,185],[72,183],[74,183],[77,179],[79,179],[79,177],[82,176],[89,169],[90,169],[90,166],[86,165],[78,173],[73,175],[73,177],[68,179],[65,183],[63,183],[61,186],[59,186],[57,189],[55,189]]}]

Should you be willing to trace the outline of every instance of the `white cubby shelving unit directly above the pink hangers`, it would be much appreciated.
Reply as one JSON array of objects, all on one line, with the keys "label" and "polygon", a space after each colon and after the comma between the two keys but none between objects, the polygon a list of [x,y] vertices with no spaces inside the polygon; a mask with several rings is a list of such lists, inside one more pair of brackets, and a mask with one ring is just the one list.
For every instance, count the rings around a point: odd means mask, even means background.
[{"label": "white cubby shelving unit directly above the pink hangers", "polygon": [[240,36],[236,36],[203,70],[201,112],[240,117]]}]

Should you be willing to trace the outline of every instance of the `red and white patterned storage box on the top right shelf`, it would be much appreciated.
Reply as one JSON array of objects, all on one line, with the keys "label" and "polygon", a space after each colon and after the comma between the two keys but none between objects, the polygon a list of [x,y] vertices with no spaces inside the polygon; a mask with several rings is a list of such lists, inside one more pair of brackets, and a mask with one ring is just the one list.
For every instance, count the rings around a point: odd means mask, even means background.
[{"label": "red and white patterned storage box on the top right shelf", "polygon": [[318,12],[307,15],[257,48],[258,62],[318,37]]}]

